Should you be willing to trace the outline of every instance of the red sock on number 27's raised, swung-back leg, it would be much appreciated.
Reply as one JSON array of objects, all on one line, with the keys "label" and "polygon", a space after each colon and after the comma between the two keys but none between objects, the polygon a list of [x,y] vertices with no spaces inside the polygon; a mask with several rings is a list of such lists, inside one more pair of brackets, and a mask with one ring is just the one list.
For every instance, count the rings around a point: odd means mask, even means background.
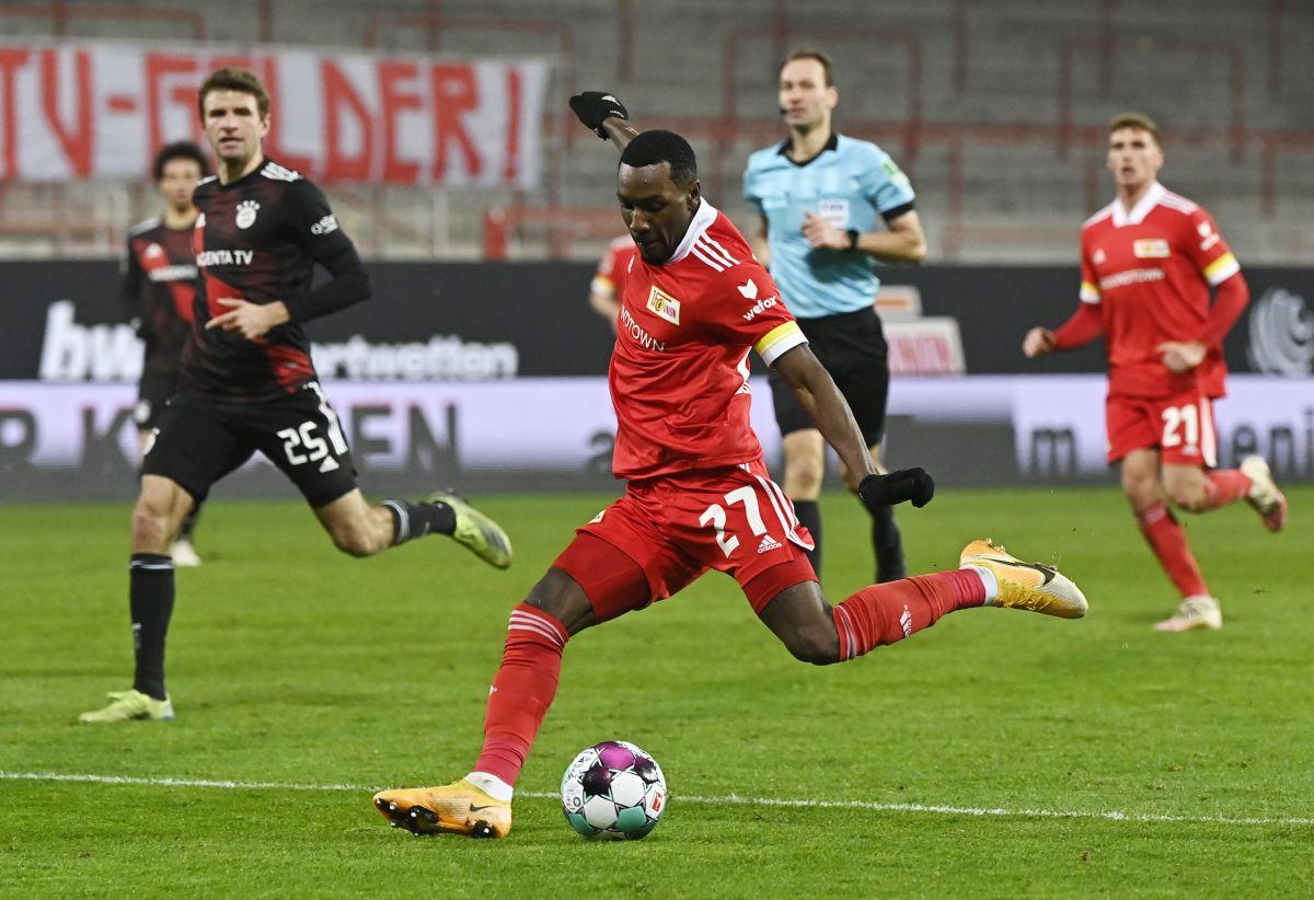
[{"label": "red sock on number 27's raised, swung-back leg", "polygon": [[984,603],[986,585],[975,572],[937,572],[863,587],[834,607],[840,661],[911,637],[946,612]]}]

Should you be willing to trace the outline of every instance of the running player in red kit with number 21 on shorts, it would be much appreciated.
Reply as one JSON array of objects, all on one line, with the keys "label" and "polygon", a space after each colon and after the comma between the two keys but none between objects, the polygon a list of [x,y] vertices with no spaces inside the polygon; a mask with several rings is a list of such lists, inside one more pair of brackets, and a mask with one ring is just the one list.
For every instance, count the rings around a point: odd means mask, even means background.
[{"label": "running player in red kit with number 21 on shorts", "polygon": [[1109,462],[1121,462],[1141,531],[1181,591],[1177,611],[1155,628],[1177,632],[1221,628],[1222,612],[1167,503],[1205,512],[1244,498],[1269,531],[1281,531],[1286,499],[1263,457],[1214,468],[1213,401],[1226,393],[1222,340],[1250,292],[1209,213],[1159,184],[1162,166],[1148,117],[1110,122],[1118,196],[1081,226],[1081,304],[1056,331],[1031,328],[1022,351],[1041,356],[1104,335]]}]

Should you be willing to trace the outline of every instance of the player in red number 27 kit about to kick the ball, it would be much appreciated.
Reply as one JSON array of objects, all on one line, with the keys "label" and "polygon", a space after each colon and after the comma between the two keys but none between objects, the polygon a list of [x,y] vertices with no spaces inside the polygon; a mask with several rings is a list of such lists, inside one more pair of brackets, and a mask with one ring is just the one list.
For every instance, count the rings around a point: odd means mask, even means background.
[{"label": "player in red number 27 kit about to kick the ball", "polygon": [[512,784],[557,690],[568,640],[665,599],[708,569],[732,575],[796,658],[853,660],[967,607],[1085,614],[1076,585],[972,541],[962,569],[866,587],[832,607],[808,562],[811,539],[767,476],[749,427],[748,353],[795,386],[870,506],[933,493],[921,469],[876,474],[849,406],[808,349],[779,292],[729,219],[700,194],[694,151],[670,131],[639,134],[610,95],[572,106],[620,148],[622,215],[639,256],[625,280],[611,360],[625,494],[578,529],[511,612],[493,679],[484,750],[466,778],[382,791],[376,808],[414,833],[505,837]]}]

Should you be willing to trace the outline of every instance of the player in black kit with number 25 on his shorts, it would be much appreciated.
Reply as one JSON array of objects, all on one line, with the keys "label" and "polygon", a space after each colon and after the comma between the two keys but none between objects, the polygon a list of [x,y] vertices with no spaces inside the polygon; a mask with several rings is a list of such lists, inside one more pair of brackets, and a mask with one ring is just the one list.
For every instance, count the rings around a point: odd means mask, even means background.
[{"label": "player in black kit with number 25 on his shorts", "polygon": [[[506,533],[459,497],[371,506],[338,416],[315,378],[302,323],[369,297],[369,280],[323,193],[267,159],[269,96],[260,80],[221,68],[198,96],[218,177],[197,187],[200,268],[179,393],[151,431],[133,510],[133,688],[81,721],[172,719],[164,636],[173,608],[170,540],[210,485],[260,451],[305,495],[334,544],[373,556],[428,533],[455,537],[484,561],[511,564]],[[332,276],[311,286],[315,264]]]}]

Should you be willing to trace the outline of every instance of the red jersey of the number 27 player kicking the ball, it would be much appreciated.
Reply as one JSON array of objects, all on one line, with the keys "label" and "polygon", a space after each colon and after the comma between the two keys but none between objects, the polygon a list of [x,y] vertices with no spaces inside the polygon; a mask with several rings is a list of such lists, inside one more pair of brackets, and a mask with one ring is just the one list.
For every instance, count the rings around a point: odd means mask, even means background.
[{"label": "red jersey of the number 27 player kicking the ball", "polygon": [[805,343],[744,235],[703,200],[670,259],[635,256],[625,279],[610,372],[616,477],[759,460],[748,353],[770,365]]}]

